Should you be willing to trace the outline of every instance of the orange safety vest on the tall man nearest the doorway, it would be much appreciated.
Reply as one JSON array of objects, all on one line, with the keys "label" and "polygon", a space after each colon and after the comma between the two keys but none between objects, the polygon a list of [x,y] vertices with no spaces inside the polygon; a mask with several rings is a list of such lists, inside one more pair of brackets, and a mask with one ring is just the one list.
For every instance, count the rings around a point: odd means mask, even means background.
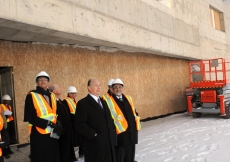
[{"label": "orange safety vest on the tall man nearest the doorway", "polygon": [[[51,93],[51,104],[52,104],[52,108],[51,108],[48,102],[46,101],[46,99],[41,94],[35,92],[30,92],[30,94],[32,95],[32,100],[33,100],[34,108],[36,109],[37,116],[39,118],[56,123],[57,104],[56,104],[55,95]],[[33,125],[29,123],[29,133],[31,133],[32,126]],[[49,134],[51,132],[50,126],[47,126],[46,129],[42,129],[40,127],[36,127],[36,129],[41,134]]]}]

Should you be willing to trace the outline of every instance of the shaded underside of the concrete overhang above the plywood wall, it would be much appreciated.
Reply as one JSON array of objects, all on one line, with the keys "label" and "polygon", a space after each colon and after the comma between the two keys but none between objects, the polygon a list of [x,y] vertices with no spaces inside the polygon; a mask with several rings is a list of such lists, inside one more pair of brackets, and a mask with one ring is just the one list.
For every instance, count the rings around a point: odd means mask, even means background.
[{"label": "shaded underside of the concrete overhang above the plywood wall", "polygon": [[99,48],[100,51],[107,51],[107,52],[123,50],[127,52],[145,52],[145,53],[151,53],[151,54],[156,54],[161,56],[191,59],[191,58],[186,58],[184,56],[162,53],[162,51],[153,51],[149,49],[126,46],[123,44],[117,44],[114,42],[94,39],[87,36],[75,35],[72,33],[64,33],[52,29],[38,27],[30,24],[24,24],[24,23],[6,20],[2,18],[0,18],[0,40],[13,41],[13,42],[28,42],[28,43],[39,42],[39,43],[67,44],[67,45],[77,45],[78,47],[83,47],[83,48],[96,47]]}]

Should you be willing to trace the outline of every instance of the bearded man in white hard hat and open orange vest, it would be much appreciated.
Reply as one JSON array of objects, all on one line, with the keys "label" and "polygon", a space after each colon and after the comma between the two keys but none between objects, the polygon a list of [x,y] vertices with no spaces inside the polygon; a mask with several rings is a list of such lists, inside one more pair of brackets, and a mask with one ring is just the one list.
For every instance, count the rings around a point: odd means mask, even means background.
[{"label": "bearded man in white hard hat and open orange vest", "polygon": [[138,142],[138,130],[141,128],[140,117],[137,116],[132,98],[123,94],[122,80],[114,79],[112,88],[112,96],[103,96],[103,99],[110,109],[116,127],[116,160],[134,162],[135,144]]}]

